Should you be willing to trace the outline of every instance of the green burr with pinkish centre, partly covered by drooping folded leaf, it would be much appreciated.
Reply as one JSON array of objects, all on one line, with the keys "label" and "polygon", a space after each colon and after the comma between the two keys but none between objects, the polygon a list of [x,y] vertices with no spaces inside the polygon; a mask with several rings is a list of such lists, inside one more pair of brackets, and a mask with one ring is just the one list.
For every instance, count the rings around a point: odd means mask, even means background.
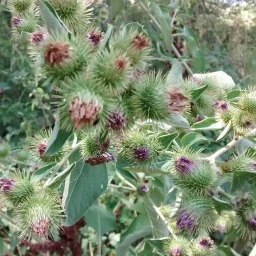
[{"label": "green burr with pinkish centre, partly covered by drooping folded leaf", "polygon": [[29,141],[29,152],[34,162],[58,162],[66,156],[68,145],[65,144],[58,153],[52,156],[45,156],[44,153],[52,135],[51,129],[45,129],[37,132]]}]

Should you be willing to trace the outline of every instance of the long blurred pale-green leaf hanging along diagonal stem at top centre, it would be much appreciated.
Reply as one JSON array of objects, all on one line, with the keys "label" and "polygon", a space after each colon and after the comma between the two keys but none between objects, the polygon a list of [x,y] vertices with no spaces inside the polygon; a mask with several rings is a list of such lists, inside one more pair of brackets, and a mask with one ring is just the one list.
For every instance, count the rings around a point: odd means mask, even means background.
[{"label": "long blurred pale-green leaf hanging along diagonal stem at top centre", "polygon": [[162,11],[160,7],[155,3],[151,3],[151,8],[161,27],[165,47],[168,52],[172,52],[174,37],[172,34],[172,21],[170,20],[169,13],[166,11]]}]

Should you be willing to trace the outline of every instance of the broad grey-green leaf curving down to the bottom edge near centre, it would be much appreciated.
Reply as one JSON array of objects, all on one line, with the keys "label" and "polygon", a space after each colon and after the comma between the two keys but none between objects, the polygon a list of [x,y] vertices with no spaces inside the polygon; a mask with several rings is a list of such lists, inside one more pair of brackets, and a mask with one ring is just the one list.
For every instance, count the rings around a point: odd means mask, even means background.
[{"label": "broad grey-green leaf curving down to the bottom edge near centre", "polygon": [[117,256],[125,256],[133,242],[143,237],[148,237],[151,233],[151,225],[148,216],[137,216],[131,226],[121,234],[120,242],[116,247]]}]

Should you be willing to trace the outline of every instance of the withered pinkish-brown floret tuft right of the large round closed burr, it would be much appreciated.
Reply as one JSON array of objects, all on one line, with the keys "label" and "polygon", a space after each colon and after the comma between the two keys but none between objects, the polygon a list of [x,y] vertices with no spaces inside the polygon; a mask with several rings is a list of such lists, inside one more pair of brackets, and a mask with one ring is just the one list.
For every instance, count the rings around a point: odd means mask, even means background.
[{"label": "withered pinkish-brown floret tuft right of the large round closed burr", "polygon": [[172,112],[182,112],[189,106],[188,97],[179,88],[167,90],[168,106]]}]

